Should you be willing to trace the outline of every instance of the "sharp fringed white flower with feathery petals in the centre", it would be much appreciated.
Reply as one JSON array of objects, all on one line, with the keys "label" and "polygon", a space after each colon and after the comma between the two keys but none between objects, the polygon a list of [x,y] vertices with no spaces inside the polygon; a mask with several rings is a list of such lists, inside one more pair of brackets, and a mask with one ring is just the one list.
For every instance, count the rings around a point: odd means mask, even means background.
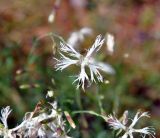
[{"label": "sharp fringed white flower with feathery petals in the centre", "polygon": [[[92,47],[87,51],[87,54],[85,56],[81,55],[79,52],[77,52],[71,45],[67,43],[60,43],[60,55],[61,58],[57,60],[56,64],[56,70],[63,70],[67,68],[70,65],[78,65],[80,66],[80,73],[77,76],[77,79],[75,79],[74,82],[78,82],[77,88],[82,86],[83,90],[85,89],[85,81],[90,83],[96,82],[95,77],[99,82],[103,82],[103,77],[100,74],[99,70],[102,70],[104,72],[114,74],[113,68],[105,63],[97,62],[93,58],[93,54],[98,52],[101,48],[101,46],[104,43],[104,39],[102,39],[101,35],[98,35],[94,44]],[[65,53],[67,56],[65,56],[63,53]],[[89,68],[90,71],[90,77],[86,73],[86,67]]]}]

